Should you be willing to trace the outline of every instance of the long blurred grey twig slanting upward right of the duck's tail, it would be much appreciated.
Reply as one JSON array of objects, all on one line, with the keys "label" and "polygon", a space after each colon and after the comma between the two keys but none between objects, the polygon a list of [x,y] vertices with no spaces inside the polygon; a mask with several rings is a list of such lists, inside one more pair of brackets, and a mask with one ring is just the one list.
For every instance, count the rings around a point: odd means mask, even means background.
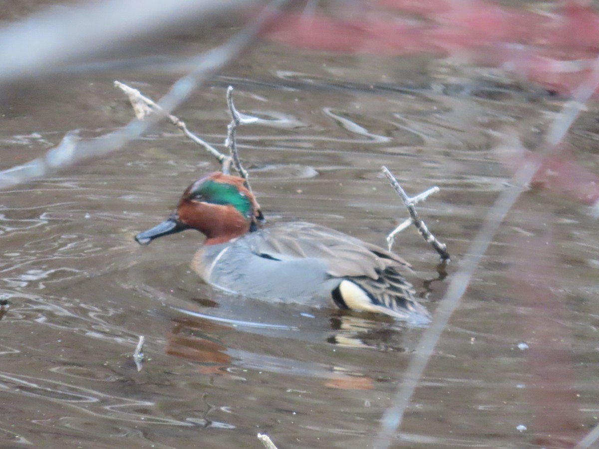
[{"label": "long blurred grey twig slanting upward right of the duck's tail", "polygon": [[[556,146],[561,142],[561,139],[567,134],[574,120],[584,107],[585,103],[591,97],[592,93],[599,87],[599,57],[595,59],[593,71],[589,77],[580,84],[579,88],[574,92],[574,100],[568,102],[564,109],[553,120],[549,133],[547,134],[545,148],[543,153],[554,151]],[[470,248],[468,248],[467,256],[462,261],[460,271],[453,277],[447,288],[445,296],[441,300],[432,321],[431,326],[425,330],[422,338],[416,346],[416,350],[410,365],[404,373],[404,381],[398,386],[397,392],[392,399],[392,406],[389,407],[383,414],[381,427],[374,442],[374,449],[387,449],[391,445],[395,432],[401,425],[404,412],[410,404],[410,400],[414,395],[416,386],[422,377],[422,373],[428,364],[441,333],[447,326],[449,318],[453,311],[458,306],[459,300],[464,295],[468,288],[468,284],[478,267],[480,260],[485,254],[487,248],[491,244],[495,233],[499,229],[501,222],[505,219],[507,213],[512,208],[513,204],[518,199],[518,196],[524,190],[525,186],[532,180],[534,174],[540,168],[541,158],[524,163],[515,175],[512,177],[509,189],[505,190],[495,204],[489,210],[485,217],[483,226],[474,237]],[[591,436],[592,439],[588,439]],[[593,429],[583,439],[585,445],[592,444],[599,438],[599,430]]]}]

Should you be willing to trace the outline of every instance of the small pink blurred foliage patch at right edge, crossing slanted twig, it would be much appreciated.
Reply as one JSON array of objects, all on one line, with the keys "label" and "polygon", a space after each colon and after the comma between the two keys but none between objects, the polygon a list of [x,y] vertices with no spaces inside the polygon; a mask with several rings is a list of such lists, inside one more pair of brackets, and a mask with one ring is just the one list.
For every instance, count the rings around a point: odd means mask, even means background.
[{"label": "small pink blurred foliage patch at right edge, crossing slanted twig", "polygon": [[493,151],[495,158],[512,172],[526,162],[540,163],[531,187],[541,187],[582,204],[594,205],[599,201],[599,176],[576,162],[573,153],[573,148],[567,144],[559,145],[547,155],[518,144],[502,145]]}]

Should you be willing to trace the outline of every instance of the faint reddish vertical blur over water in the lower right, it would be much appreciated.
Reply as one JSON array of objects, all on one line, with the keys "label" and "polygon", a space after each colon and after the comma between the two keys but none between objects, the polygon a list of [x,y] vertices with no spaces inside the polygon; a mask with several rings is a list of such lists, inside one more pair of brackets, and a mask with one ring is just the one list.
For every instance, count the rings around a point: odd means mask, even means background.
[{"label": "faint reddish vertical blur over water in the lower right", "polygon": [[[551,217],[537,216],[536,223]],[[581,415],[576,402],[573,336],[568,330],[568,310],[556,289],[559,261],[550,230],[537,229],[535,236],[519,235],[510,244],[513,266],[512,296],[522,310],[522,335],[528,344],[523,355],[531,377],[527,384],[533,408],[538,447],[571,448],[582,438]]]}]

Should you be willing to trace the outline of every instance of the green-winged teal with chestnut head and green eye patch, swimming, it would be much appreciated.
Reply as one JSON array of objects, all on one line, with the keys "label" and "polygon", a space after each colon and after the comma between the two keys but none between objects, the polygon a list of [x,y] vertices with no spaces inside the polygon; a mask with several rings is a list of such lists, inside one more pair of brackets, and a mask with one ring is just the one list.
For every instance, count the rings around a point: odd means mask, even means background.
[{"label": "green-winged teal with chestnut head and green eye patch, swimming", "polygon": [[241,177],[211,173],[185,189],[167,220],[135,236],[196,229],[205,235],[191,267],[207,284],[246,298],[336,306],[428,323],[401,271],[406,260],[378,245],[307,222],[259,226],[262,213]]}]

